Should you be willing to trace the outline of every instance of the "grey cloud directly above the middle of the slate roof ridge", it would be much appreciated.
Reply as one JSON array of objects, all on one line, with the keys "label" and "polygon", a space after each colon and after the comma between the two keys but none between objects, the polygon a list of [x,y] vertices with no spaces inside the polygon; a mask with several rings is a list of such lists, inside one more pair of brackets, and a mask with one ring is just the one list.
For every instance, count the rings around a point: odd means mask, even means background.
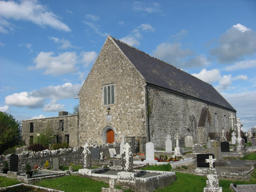
[{"label": "grey cloud directly above the middle of the slate roof ridge", "polygon": [[182,59],[193,53],[190,49],[182,49],[181,43],[162,43],[153,51],[153,56],[176,67],[182,67]]}]

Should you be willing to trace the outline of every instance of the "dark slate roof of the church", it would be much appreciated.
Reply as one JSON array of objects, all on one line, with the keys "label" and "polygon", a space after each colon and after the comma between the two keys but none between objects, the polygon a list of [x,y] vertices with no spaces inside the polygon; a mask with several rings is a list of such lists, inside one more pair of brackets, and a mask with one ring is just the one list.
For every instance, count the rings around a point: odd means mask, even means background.
[{"label": "dark slate roof of the church", "polygon": [[236,111],[212,85],[111,37],[146,82]]}]

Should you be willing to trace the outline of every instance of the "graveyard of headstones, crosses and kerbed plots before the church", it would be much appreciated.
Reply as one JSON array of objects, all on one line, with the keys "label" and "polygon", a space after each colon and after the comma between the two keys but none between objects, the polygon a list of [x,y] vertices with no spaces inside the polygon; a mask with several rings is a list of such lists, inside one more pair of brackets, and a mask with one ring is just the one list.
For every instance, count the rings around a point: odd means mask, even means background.
[{"label": "graveyard of headstones, crosses and kerbed plots before the church", "polygon": [[[236,126],[240,128],[241,124],[238,123]],[[242,192],[241,189],[248,189],[248,192],[253,192],[256,189],[256,137],[242,138],[240,134],[237,138],[234,137],[236,134],[232,134],[230,142],[224,136],[212,140],[209,137],[206,145],[202,145],[194,144],[191,137],[185,138],[182,143],[178,135],[175,136],[175,142],[172,144],[168,135],[165,150],[155,150],[154,143],[148,142],[146,152],[139,154],[131,152],[129,142],[125,142],[125,138],[120,144],[109,145],[107,150],[85,144],[74,149],[9,154],[6,157],[1,156],[1,163],[5,160],[10,166],[8,166],[7,173],[2,173],[4,172],[2,168],[0,179],[12,178],[17,183],[21,183],[15,187],[33,187],[41,191],[62,191],[58,190],[58,186],[67,181],[60,182],[60,180],[81,178],[87,179],[89,185],[97,183],[94,189],[89,191],[148,192],[172,191],[176,185],[186,182],[184,178],[192,180],[200,178],[199,180],[204,181],[200,184],[203,188],[195,190],[196,184],[192,183],[193,187],[190,186],[193,188],[192,191],[239,192],[240,189]],[[246,143],[251,143],[251,145],[246,145]],[[66,164],[63,168],[64,162],[67,162],[67,153],[73,156],[72,160],[77,159],[74,164],[78,166]],[[49,161],[47,160],[45,164],[39,163],[37,160],[44,160],[44,156]],[[33,172],[32,176],[26,172],[29,171],[26,162],[30,162],[34,167],[34,169],[29,168]],[[164,166],[169,166],[169,170],[166,168],[159,170]],[[49,180],[55,181],[55,186],[51,189],[40,186],[40,183],[45,184]],[[100,186],[98,186],[99,183]],[[0,191],[6,190],[5,187],[0,182]],[[86,188],[86,186],[79,187],[78,185],[78,188],[83,187]],[[72,188],[69,190],[78,191]]]}]

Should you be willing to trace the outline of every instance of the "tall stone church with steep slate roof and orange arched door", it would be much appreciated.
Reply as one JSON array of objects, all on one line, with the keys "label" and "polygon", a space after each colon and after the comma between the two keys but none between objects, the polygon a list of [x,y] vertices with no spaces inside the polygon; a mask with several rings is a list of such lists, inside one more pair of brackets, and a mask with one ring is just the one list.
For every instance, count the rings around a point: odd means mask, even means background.
[{"label": "tall stone church with steep slate roof and orange arched door", "polygon": [[[146,142],[164,149],[168,134],[206,143],[209,134],[228,133],[230,116],[236,116],[212,85],[111,36],[79,99],[78,131],[73,133],[78,146],[120,142],[125,136],[140,151]],[[22,129],[29,130],[23,122]]]}]

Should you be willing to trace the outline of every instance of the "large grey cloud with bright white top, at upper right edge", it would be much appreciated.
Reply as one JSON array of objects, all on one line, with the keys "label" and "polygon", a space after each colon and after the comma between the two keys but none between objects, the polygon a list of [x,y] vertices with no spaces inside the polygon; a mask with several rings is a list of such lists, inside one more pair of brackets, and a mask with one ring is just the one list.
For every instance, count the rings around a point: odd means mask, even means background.
[{"label": "large grey cloud with bright white top, at upper right edge", "polygon": [[233,25],[219,39],[219,46],[210,54],[222,63],[242,60],[243,56],[256,53],[256,32],[242,24]]}]

